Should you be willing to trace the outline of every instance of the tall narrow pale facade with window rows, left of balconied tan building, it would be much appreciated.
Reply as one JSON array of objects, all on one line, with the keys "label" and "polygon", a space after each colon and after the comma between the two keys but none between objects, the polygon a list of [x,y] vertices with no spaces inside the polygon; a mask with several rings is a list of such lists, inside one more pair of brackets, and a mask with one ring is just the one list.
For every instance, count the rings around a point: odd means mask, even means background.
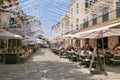
[{"label": "tall narrow pale facade with window rows, left of balconied tan building", "polygon": [[81,23],[85,14],[84,7],[85,0],[71,0],[70,1],[70,28],[71,32],[81,29]]}]

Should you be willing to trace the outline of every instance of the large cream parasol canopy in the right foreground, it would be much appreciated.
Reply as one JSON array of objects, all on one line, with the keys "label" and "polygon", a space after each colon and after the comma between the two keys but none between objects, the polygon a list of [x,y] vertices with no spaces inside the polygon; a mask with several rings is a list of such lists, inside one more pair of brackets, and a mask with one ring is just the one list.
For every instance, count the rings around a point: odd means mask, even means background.
[{"label": "large cream parasol canopy in the right foreground", "polygon": [[120,27],[116,27],[120,23],[88,30],[88,31],[83,31],[74,34],[74,36],[79,37],[79,38],[101,38],[101,37],[109,37],[109,36],[119,36],[120,35]]}]

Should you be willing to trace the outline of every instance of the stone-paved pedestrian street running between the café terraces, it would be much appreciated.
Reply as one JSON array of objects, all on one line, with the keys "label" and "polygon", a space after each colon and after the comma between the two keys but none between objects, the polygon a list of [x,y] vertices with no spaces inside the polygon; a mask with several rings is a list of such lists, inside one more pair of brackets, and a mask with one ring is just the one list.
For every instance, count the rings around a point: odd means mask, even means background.
[{"label": "stone-paved pedestrian street running between the caf\u00e9 terraces", "polygon": [[80,66],[41,49],[24,63],[0,64],[0,80],[90,80]]}]

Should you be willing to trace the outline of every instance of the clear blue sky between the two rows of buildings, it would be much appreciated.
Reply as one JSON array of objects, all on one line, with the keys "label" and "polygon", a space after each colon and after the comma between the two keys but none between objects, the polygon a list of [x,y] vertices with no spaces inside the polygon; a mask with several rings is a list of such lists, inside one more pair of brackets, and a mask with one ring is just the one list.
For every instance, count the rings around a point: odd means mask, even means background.
[{"label": "clear blue sky between the two rows of buildings", "polygon": [[18,0],[23,11],[41,21],[44,37],[50,38],[52,25],[59,22],[63,13],[69,11],[70,0]]}]

